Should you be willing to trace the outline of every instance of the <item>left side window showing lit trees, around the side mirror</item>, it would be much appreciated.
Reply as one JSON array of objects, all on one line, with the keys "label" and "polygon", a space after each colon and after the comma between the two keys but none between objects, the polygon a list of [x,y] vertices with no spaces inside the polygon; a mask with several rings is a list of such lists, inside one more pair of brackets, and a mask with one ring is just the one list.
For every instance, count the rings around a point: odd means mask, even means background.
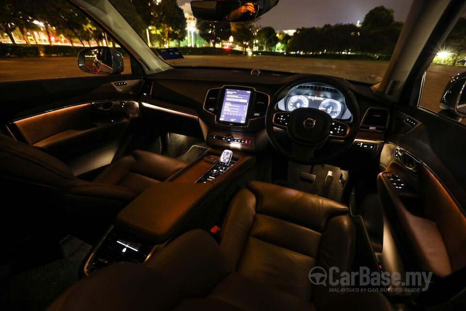
[{"label": "left side window showing lit trees, around the side mirror", "polygon": [[[3,2],[4,3],[4,2]],[[84,47],[108,46],[128,54],[66,0],[7,1],[0,9],[0,82],[96,76],[78,68]]]}]

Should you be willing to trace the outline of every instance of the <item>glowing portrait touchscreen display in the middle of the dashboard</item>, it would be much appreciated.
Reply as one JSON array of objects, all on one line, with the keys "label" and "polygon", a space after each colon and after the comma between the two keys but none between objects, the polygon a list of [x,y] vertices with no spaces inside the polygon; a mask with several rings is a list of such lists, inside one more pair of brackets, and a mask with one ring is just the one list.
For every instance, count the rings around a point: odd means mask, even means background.
[{"label": "glowing portrait touchscreen display in the middle of the dashboard", "polygon": [[250,90],[225,89],[219,121],[246,123],[250,97]]}]

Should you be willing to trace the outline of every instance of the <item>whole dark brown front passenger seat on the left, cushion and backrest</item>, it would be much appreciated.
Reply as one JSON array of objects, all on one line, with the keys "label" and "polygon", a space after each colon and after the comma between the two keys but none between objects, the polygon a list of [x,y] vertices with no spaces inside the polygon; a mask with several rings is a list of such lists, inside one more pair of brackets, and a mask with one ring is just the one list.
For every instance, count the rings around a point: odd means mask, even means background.
[{"label": "whole dark brown front passenger seat on the left, cushion and backrest", "polygon": [[[77,178],[57,158],[0,135],[2,232],[30,232],[41,222],[60,222],[81,233],[100,234],[118,211],[152,184],[164,181],[188,163],[165,155],[135,151],[109,165],[93,181]],[[14,235],[20,240],[21,235]]]}]

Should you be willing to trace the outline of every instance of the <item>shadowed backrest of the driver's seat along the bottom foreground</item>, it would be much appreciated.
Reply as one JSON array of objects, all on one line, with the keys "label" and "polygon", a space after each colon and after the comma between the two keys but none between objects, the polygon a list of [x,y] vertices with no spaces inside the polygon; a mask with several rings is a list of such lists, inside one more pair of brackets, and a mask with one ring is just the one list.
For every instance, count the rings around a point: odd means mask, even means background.
[{"label": "shadowed backrest of the driver's seat along the bottom foreground", "polygon": [[[232,271],[227,262],[208,233],[193,230],[142,265],[117,263],[84,278],[47,310],[316,310],[310,301]],[[317,310],[392,310],[380,293],[334,294],[329,306]]]}]

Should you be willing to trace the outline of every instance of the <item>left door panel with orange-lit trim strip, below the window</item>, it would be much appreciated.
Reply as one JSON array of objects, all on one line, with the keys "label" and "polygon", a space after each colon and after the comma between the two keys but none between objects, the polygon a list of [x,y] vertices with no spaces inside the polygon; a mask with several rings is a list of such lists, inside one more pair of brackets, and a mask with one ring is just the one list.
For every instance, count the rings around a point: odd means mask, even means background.
[{"label": "left door panel with orange-lit trim strip, below the window", "polygon": [[0,118],[18,140],[85,173],[109,164],[129,135],[140,83],[133,75],[0,83]]}]

